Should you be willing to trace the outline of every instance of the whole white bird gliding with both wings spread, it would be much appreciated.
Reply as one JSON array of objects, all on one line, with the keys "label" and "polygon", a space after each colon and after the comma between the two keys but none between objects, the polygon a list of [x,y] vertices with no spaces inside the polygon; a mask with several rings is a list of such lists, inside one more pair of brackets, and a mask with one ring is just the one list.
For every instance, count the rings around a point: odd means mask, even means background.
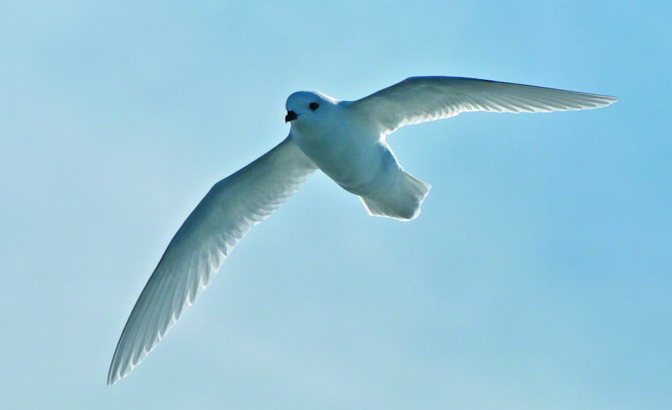
[{"label": "whole white bird gliding with both wings spread", "polygon": [[603,107],[606,95],[458,77],[412,77],[357,101],[300,91],[286,102],[289,136],[217,182],[170,241],[120,336],[108,384],[127,375],[173,327],[245,233],[322,170],[371,215],[410,221],[430,185],[386,143],[399,127],[468,111],[550,112]]}]

